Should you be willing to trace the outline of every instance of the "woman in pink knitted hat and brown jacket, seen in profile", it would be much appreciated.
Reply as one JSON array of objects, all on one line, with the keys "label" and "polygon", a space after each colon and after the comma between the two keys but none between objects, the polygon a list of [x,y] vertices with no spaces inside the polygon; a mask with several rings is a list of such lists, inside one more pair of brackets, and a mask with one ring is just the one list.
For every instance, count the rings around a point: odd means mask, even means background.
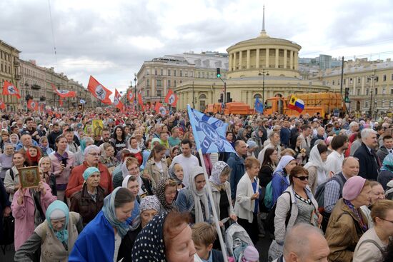
[{"label": "woman in pink knitted hat and brown jacket, seen in profile", "polygon": [[329,261],[352,261],[359,239],[369,229],[360,206],[369,204],[370,193],[369,181],[361,176],[353,176],[345,182],[342,198],[334,206],[327,225]]}]

